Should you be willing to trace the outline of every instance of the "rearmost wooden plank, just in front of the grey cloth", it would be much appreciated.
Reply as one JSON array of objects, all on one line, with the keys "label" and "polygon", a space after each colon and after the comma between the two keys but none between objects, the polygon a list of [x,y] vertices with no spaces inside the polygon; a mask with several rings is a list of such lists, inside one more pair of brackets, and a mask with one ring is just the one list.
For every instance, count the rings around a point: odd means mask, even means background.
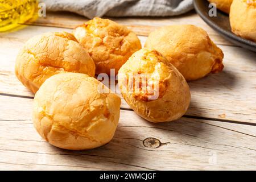
[{"label": "rearmost wooden plank, just in front of the grey cloth", "polygon": [[[108,17],[104,17],[108,18]],[[133,30],[138,35],[148,36],[151,31],[161,26],[168,26],[171,24],[194,24],[196,26],[204,28],[210,35],[210,37],[217,44],[233,46],[233,43],[228,42],[222,38],[216,31],[210,28],[200,17],[192,11],[185,15],[173,16],[173,17],[157,17],[157,18],[109,18],[124,24],[130,30]],[[49,26],[49,27],[63,27],[63,28],[75,28],[80,24],[87,22],[89,19],[84,16],[75,14],[63,14],[59,12],[48,12],[46,17],[39,18],[36,22],[27,24],[34,24],[38,26]]]}]

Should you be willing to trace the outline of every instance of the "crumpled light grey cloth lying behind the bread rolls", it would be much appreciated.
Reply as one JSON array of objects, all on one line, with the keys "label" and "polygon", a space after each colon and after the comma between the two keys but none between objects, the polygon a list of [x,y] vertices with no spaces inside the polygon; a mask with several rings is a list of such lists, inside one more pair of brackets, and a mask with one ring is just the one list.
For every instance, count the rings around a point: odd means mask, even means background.
[{"label": "crumpled light grey cloth lying behind the bread rolls", "polygon": [[41,0],[49,11],[95,16],[174,16],[193,9],[193,0]]}]

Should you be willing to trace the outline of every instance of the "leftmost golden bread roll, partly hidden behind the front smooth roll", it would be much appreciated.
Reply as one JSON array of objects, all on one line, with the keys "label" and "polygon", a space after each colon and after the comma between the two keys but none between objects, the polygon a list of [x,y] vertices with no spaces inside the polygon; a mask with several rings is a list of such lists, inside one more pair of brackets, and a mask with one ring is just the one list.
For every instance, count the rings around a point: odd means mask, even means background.
[{"label": "leftmost golden bread roll, partly hidden behind the front smooth roll", "polygon": [[31,38],[16,58],[15,74],[33,93],[47,78],[64,72],[95,74],[92,58],[67,32],[49,32]]}]

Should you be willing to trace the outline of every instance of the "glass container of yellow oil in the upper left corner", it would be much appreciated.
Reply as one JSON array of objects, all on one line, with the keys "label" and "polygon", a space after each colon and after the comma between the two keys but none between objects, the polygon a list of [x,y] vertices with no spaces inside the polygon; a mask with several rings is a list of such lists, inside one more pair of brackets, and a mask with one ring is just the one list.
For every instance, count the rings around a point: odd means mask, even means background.
[{"label": "glass container of yellow oil in the upper left corner", "polygon": [[0,0],[0,32],[35,18],[37,8],[37,0]]}]

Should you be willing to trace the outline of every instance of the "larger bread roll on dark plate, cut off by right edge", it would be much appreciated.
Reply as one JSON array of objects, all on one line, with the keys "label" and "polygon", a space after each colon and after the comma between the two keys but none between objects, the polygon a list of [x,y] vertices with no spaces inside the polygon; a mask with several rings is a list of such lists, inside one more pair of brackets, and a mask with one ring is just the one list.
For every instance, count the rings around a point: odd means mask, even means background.
[{"label": "larger bread roll on dark plate, cut off by right edge", "polygon": [[229,19],[234,34],[256,42],[256,0],[234,0]]}]

